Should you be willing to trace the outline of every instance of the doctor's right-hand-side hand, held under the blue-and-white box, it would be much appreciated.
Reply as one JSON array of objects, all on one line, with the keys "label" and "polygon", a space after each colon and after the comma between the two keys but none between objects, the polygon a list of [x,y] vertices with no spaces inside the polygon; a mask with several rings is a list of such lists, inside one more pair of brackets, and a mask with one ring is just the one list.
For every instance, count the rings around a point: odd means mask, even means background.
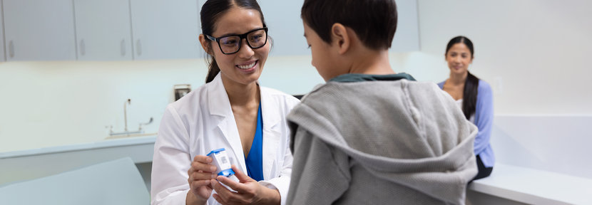
[{"label": "doctor's right-hand-side hand, held under the blue-and-white box", "polygon": [[[269,189],[259,184],[255,179],[251,179],[245,173],[241,172],[233,165],[235,176],[239,182],[232,179],[219,176],[216,181],[211,180],[213,188],[217,194],[213,194],[214,199],[220,204],[280,204],[280,191]],[[226,189],[222,184],[237,191],[236,193]]]}]

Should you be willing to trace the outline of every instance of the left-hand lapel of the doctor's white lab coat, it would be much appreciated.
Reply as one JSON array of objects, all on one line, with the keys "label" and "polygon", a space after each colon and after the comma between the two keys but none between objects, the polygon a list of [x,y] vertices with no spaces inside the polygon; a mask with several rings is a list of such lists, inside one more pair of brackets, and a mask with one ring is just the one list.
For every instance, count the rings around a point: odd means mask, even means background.
[{"label": "left-hand lapel of the doctor's white lab coat", "polygon": [[[218,129],[224,135],[224,139],[233,149],[235,164],[240,170],[247,173],[247,166],[245,164],[245,154],[243,154],[243,145],[240,144],[240,136],[238,135],[238,128],[236,120],[233,115],[233,109],[230,107],[230,100],[228,94],[222,84],[220,73],[216,75],[211,85],[208,88],[208,107],[211,115],[218,116]],[[223,139],[220,139],[223,140]],[[216,149],[223,148],[218,147]],[[208,151],[209,152],[209,151]]]}]

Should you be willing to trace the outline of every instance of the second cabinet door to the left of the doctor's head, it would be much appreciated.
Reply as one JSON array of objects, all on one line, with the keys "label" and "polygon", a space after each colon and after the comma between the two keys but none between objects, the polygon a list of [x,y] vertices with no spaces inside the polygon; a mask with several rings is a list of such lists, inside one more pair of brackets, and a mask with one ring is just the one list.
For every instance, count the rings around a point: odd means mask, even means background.
[{"label": "second cabinet door to the left of the doctor's head", "polygon": [[74,0],[78,60],[131,61],[129,0]]}]

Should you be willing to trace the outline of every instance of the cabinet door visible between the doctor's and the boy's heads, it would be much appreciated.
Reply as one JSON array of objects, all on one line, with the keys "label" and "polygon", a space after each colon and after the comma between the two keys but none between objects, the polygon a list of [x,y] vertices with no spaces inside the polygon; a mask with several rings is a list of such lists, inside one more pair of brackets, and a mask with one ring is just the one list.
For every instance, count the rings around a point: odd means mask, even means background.
[{"label": "cabinet door visible between the doctor's and the boy's heads", "polygon": [[259,0],[273,47],[270,56],[310,55],[300,9],[304,0]]}]

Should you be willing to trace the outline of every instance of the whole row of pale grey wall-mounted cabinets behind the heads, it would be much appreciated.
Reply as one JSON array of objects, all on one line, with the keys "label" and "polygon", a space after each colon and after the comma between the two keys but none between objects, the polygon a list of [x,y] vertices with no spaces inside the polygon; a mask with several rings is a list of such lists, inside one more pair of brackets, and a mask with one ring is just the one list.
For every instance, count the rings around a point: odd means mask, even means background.
[{"label": "whole row of pale grey wall-mounted cabinets behind the heads", "polygon": [[[6,61],[202,58],[198,36],[204,2],[4,0],[0,61],[4,56]],[[270,56],[310,55],[302,36],[303,2],[259,0],[273,39]],[[417,0],[398,0],[397,6],[399,23],[390,51],[419,51]]]}]

